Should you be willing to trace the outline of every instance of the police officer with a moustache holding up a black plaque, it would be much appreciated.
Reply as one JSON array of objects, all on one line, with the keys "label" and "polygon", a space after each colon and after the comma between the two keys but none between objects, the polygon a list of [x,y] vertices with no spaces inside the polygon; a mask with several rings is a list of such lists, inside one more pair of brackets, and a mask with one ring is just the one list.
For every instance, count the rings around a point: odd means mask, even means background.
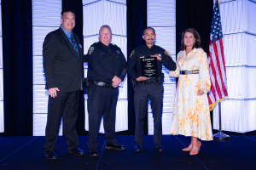
[{"label": "police officer with a moustache holding up a black plaque", "polygon": [[[135,127],[135,151],[142,150],[143,144],[143,123],[145,117],[145,110],[148,105],[148,99],[151,102],[151,108],[154,117],[154,149],[163,152],[164,148],[162,142],[162,108],[163,108],[163,93],[164,93],[164,75],[161,72],[162,65],[170,71],[176,70],[176,64],[172,57],[165,51],[165,49],[154,45],[155,31],[152,27],[147,27],[143,31],[143,39],[146,44],[136,48],[132,51],[130,59],[128,60],[127,71],[131,77],[134,86],[134,107],[136,113],[136,127]],[[141,57],[155,57],[157,59],[157,67],[155,77],[143,76],[143,68]]]}]

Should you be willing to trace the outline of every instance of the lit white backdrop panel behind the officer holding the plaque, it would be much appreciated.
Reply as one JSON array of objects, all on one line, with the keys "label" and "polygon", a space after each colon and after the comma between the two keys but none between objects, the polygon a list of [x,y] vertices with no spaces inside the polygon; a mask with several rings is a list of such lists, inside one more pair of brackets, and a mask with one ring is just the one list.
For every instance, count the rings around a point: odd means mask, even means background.
[{"label": "lit white backdrop panel behind the officer holding the plaque", "polygon": [[[165,48],[176,59],[176,3],[175,0],[148,0],[148,26],[156,31],[156,45]],[[163,134],[171,133],[174,96],[176,93],[176,79],[169,76],[164,67],[164,104],[162,116]],[[154,119],[150,105],[148,105],[148,134],[154,134]]]}]

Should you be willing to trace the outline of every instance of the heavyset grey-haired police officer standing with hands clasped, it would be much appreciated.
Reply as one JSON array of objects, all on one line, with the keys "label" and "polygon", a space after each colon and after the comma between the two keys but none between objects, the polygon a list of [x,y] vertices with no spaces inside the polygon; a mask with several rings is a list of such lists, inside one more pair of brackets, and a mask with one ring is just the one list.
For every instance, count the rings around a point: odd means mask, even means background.
[{"label": "heavyset grey-haired police officer standing with hands clasped", "polygon": [[107,144],[105,149],[125,150],[115,137],[116,105],[119,95],[119,84],[126,74],[126,60],[121,49],[110,43],[111,28],[107,25],[99,31],[99,42],[89,48],[88,77],[88,113],[90,156],[98,156],[97,134],[103,116],[103,124]]}]

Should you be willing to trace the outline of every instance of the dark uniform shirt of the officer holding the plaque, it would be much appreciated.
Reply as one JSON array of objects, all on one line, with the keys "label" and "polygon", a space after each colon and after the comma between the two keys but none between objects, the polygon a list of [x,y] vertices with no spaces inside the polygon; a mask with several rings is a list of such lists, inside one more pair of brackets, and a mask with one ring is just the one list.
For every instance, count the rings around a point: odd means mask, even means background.
[{"label": "dark uniform shirt of the officer holding the plaque", "polygon": [[[165,65],[165,67],[169,71],[175,71],[176,70],[176,64],[172,60],[172,57],[170,57],[166,50],[163,48],[160,48],[157,45],[153,45],[151,48],[148,48],[146,44],[136,48],[131,52],[130,58],[128,60],[128,66],[127,71],[131,79],[136,80],[137,77],[142,77],[142,64],[140,57],[142,56],[150,56],[154,54],[161,54],[161,60],[157,60],[157,69],[158,73],[160,74],[162,71],[162,65]],[[159,75],[160,76],[160,75]]]}]

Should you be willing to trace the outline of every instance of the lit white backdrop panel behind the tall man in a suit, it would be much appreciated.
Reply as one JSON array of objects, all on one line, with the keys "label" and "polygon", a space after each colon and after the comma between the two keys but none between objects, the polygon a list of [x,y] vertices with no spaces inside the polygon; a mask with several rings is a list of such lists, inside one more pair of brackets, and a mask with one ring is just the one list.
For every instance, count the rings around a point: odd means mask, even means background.
[{"label": "lit white backdrop panel behind the tall man in a suit", "polygon": [[33,136],[45,135],[49,95],[45,90],[43,42],[50,31],[61,25],[61,8],[61,0],[32,0]]}]

